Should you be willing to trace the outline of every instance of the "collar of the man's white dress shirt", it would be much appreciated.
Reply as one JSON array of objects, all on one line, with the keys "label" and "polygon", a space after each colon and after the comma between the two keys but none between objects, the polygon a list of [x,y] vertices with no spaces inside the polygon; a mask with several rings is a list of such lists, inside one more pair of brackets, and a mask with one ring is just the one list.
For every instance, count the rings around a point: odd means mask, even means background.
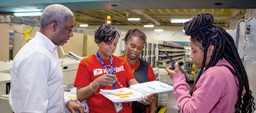
[{"label": "collar of the man's white dress shirt", "polygon": [[57,49],[57,45],[55,45],[48,37],[43,35],[41,32],[36,32],[35,38],[39,39],[40,41],[45,44],[45,46],[53,53]]}]

